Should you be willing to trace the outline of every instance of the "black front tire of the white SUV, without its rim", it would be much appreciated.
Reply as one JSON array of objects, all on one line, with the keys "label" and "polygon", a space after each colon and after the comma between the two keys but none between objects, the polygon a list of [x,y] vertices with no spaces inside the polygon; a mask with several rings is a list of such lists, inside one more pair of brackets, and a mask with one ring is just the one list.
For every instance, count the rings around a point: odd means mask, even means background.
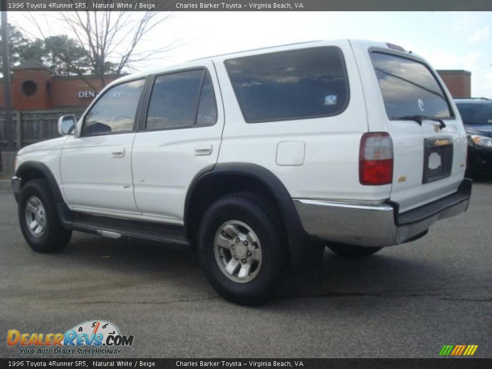
[{"label": "black front tire of the white SUV, without its rim", "polygon": [[[27,201],[33,196],[42,203],[45,214],[44,231],[39,237],[31,233],[26,219]],[[63,249],[70,242],[72,231],[61,226],[46,179],[33,179],[23,186],[18,201],[18,218],[22,234],[34,251],[55,252]]]}]

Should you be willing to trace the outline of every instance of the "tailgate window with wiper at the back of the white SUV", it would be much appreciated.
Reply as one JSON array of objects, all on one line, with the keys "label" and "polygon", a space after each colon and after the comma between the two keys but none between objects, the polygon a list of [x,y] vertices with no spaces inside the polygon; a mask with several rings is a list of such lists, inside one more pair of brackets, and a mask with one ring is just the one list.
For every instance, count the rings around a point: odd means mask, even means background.
[{"label": "tailgate window with wiper at the back of the white SUV", "polygon": [[444,91],[424,64],[385,53],[370,55],[389,119],[408,115],[453,116]]}]

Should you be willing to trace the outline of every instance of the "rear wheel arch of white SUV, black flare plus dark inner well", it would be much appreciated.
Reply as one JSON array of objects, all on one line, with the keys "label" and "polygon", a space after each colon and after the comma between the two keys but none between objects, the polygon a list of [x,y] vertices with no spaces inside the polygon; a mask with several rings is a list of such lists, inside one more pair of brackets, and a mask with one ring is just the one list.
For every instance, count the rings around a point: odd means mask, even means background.
[{"label": "rear wheel arch of white SUV, black flare plus dark inner well", "polygon": [[270,201],[270,207],[278,211],[294,271],[309,269],[321,259],[320,248],[302,228],[294,202],[283,183],[270,170],[252,163],[219,163],[204,168],[195,176],[184,211],[186,236],[193,244],[206,210],[220,197],[237,192],[255,193]]}]

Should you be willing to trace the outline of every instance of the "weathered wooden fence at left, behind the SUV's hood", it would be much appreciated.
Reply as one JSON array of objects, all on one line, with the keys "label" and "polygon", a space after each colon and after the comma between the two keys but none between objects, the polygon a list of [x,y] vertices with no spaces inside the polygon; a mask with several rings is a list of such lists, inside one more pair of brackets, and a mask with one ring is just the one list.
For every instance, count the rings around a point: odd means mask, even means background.
[{"label": "weathered wooden fence at left, behind the SUV's hood", "polygon": [[[17,149],[58,137],[58,118],[62,115],[75,115],[77,119],[85,108],[67,108],[51,110],[12,111],[12,133]],[[7,140],[4,136],[5,111],[0,110],[0,151],[5,148]],[[0,171],[2,168],[0,156]]]}]

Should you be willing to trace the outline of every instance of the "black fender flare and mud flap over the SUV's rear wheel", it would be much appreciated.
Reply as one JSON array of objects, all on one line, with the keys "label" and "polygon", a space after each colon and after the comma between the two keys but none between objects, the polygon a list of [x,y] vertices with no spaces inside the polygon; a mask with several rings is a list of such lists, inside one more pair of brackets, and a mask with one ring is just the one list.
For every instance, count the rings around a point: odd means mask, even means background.
[{"label": "black fender flare and mud flap over the SUV's rear wheel", "polygon": [[272,193],[280,209],[280,216],[285,226],[293,271],[300,272],[308,270],[311,269],[313,265],[319,263],[322,255],[321,252],[324,248],[321,248],[319,241],[317,242],[317,240],[313,239],[304,231],[289,191],[287,191],[282,181],[274,173],[267,168],[253,163],[218,163],[215,166],[211,165],[203,168],[198,172],[191,182],[185,200],[183,219],[185,220],[185,232],[187,237],[189,236],[190,231],[187,219],[190,215],[192,206],[190,202],[194,191],[200,186],[203,180],[223,174],[251,177],[252,179],[261,182]]}]

